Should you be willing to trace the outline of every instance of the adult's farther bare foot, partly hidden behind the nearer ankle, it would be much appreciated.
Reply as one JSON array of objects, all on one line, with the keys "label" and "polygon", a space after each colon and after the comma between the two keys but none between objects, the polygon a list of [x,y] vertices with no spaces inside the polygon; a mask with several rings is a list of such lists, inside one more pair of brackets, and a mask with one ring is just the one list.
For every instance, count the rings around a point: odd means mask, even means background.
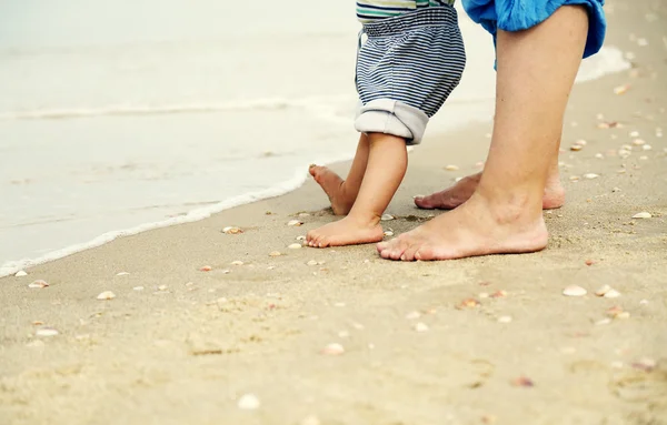
[{"label": "adult's farther bare foot, partly hidden behind the nearer ankle", "polygon": [[[468,175],[444,191],[435,192],[428,196],[416,196],[415,205],[422,210],[454,210],[472,196],[480,178],[481,173]],[[559,209],[564,204],[565,189],[560,184],[559,176],[556,175],[547,179],[545,196],[542,198],[542,209]]]}]

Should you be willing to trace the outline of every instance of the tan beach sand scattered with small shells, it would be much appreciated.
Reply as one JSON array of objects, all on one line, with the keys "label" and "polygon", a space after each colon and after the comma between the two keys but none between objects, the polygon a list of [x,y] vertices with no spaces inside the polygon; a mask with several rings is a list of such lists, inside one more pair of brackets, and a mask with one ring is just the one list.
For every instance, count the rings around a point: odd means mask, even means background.
[{"label": "tan beach sand scattered with small shells", "polygon": [[[547,250],[405,264],[374,245],[287,249],[334,220],[311,182],[121,239],[0,280],[0,423],[667,424],[667,138],[656,130],[667,130],[667,9],[609,3],[608,42],[636,68],[575,89],[568,200],[545,215]],[[411,196],[475,171],[489,131],[431,135],[387,226],[428,220]],[[286,225],[302,211],[302,226]],[[644,211],[653,217],[631,219]],[[221,233],[228,225],[245,232]],[[28,287],[37,279],[50,286]],[[588,294],[564,296],[570,284]],[[595,296],[605,284],[620,296]],[[102,291],[116,297],[97,300]],[[457,308],[466,298],[480,304]],[[613,306],[629,317],[610,318]],[[59,334],[36,336],[44,326]],[[330,343],[345,353],[321,354]],[[239,408],[245,394],[258,408]]]}]

